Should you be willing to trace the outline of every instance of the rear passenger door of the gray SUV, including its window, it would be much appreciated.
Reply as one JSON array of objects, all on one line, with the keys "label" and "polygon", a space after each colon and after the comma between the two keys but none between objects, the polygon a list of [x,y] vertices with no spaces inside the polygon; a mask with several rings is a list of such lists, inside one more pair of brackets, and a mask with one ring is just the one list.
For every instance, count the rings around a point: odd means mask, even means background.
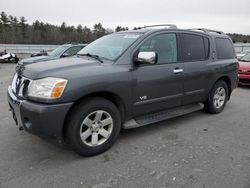
[{"label": "rear passenger door of the gray SUV, including its window", "polygon": [[204,35],[182,33],[182,57],[184,61],[183,105],[205,100],[213,73],[211,39]]}]

